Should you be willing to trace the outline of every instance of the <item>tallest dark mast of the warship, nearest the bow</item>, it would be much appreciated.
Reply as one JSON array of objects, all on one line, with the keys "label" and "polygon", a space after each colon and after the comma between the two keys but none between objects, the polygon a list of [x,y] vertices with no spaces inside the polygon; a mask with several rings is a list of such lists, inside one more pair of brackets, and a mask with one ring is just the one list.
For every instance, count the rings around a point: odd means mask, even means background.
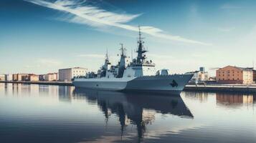
[{"label": "tallest dark mast of the warship, nearest the bow", "polygon": [[142,41],[142,37],[141,37],[141,27],[138,26],[138,50],[136,51],[138,53],[137,56],[137,63],[142,64],[144,59],[146,59],[146,55],[144,53],[146,53],[146,50],[143,47],[143,43],[144,41]]}]

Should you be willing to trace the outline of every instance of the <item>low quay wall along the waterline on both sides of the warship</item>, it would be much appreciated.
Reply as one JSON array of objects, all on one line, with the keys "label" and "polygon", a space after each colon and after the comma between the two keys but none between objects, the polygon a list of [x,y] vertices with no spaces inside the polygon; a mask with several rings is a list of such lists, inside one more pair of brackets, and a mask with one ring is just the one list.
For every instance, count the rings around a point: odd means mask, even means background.
[{"label": "low quay wall along the waterline on both sides of the warship", "polygon": [[[72,82],[25,82],[25,81],[0,81],[0,83],[13,84],[44,84],[44,85],[62,85],[73,86]],[[186,85],[185,92],[244,92],[256,93],[256,85],[242,85],[242,84],[208,84],[208,85]]]}]

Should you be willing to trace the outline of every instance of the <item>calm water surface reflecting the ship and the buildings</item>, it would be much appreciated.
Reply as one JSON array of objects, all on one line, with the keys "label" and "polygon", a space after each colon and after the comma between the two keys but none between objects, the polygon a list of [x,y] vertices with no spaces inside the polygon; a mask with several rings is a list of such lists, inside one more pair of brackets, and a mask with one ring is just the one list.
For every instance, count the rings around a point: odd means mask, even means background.
[{"label": "calm water surface reflecting the ship and the buildings", "polygon": [[0,84],[0,142],[256,142],[256,96]]}]

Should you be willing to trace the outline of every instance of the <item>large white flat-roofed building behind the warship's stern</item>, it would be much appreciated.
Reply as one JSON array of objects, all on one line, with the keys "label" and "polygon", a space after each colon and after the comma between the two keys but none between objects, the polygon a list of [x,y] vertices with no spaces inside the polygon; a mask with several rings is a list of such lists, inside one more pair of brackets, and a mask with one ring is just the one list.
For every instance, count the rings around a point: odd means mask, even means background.
[{"label": "large white flat-roofed building behind the warship's stern", "polygon": [[74,77],[85,76],[87,69],[73,67],[69,69],[59,69],[59,81],[70,82]]}]

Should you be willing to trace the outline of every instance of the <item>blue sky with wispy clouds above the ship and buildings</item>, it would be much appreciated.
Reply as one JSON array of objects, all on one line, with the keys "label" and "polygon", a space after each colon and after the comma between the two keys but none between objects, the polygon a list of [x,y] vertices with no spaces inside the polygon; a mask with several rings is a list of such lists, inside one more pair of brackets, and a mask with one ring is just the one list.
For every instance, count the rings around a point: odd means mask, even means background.
[{"label": "blue sky with wispy clouds above the ship and buildings", "polygon": [[[172,73],[256,63],[256,1],[1,0],[0,73],[97,70],[106,49],[136,49]],[[136,53],[133,53],[133,57]]]}]

